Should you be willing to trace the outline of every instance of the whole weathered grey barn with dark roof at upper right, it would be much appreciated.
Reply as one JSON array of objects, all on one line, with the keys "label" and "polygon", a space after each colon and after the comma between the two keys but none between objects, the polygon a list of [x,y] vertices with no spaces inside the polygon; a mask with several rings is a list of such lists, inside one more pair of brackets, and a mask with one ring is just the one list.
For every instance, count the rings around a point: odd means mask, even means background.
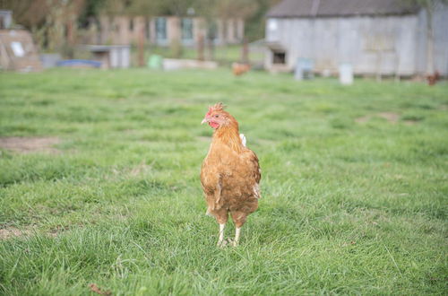
[{"label": "whole weathered grey barn with dark roof at upper right", "polygon": [[[265,67],[291,71],[299,59],[317,73],[409,76],[426,72],[426,11],[402,0],[284,0],[267,13]],[[433,17],[434,65],[448,75],[448,6]]]}]

